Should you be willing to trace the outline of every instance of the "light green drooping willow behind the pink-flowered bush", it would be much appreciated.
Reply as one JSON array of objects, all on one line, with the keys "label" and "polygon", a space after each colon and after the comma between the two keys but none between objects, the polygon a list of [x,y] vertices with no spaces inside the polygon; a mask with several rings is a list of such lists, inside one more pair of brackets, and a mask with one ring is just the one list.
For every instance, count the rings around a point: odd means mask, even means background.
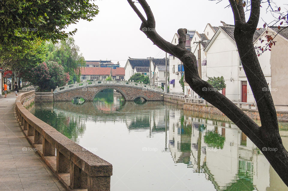
[{"label": "light green drooping willow behind the pink-flowered bush", "polygon": [[73,84],[73,81],[80,81],[79,66],[85,66],[86,62],[73,37],[63,39],[56,44],[51,42],[48,44],[48,48],[47,59],[58,62],[64,67],[65,72],[69,72],[71,79],[69,84]]}]

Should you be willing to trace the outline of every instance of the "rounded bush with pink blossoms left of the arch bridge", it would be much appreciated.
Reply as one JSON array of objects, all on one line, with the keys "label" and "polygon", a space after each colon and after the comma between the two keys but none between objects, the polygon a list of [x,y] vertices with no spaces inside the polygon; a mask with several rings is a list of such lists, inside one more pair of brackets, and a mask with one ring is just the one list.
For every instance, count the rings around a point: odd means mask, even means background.
[{"label": "rounded bush with pink blossoms left of the arch bridge", "polygon": [[69,73],[64,72],[64,67],[57,62],[47,61],[32,68],[29,75],[29,81],[34,87],[39,87],[41,91],[55,89],[69,81]]}]

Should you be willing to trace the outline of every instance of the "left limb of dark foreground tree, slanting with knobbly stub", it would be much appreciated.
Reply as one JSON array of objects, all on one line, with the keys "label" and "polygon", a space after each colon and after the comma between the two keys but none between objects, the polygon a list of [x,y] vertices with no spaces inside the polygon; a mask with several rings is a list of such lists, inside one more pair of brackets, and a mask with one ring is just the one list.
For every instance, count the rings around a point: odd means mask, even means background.
[{"label": "left limb of dark foreground tree, slanting with knobbly stub", "polygon": [[[142,18],[144,16],[137,9],[132,0],[127,0],[137,15]],[[155,19],[153,13],[145,0],[139,0],[140,5],[143,7],[148,21],[142,21],[140,30],[142,30],[146,36],[159,48],[168,52],[175,57],[179,58],[184,64],[185,80],[190,87],[206,101],[217,107],[223,112],[232,122],[235,123],[248,137],[261,141],[257,137],[257,133],[260,131],[259,126],[248,117],[240,108],[238,108],[232,101],[226,96],[215,90],[208,82],[203,81],[198,75],[197,60],[192,52],[186,50],[184,42],[186,41],[187,29],[179,29],[179,45],[173,45],[172,43],[164,40],[155,30]],[[140,14],[139,14],[140,13]],[[240,17],[239,17],[240,18]],[[152,21],[152,22],[151,22]],[[153,30],[143,30],[143,27],[151,27]],[[201,63],[199,63],[201,64]],[[245,123],[244,123],[245,122]]]}]

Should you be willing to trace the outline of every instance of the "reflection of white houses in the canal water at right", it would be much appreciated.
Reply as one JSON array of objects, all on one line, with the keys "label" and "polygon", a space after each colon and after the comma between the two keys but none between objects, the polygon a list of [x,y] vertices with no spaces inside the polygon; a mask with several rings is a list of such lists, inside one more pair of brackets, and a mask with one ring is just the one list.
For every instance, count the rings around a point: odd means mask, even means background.
[{"label": "reflection of white houses in the canal water at right", "polygon": [[[184,116],[177,109],[170,110],[169,118],[174,162],[205,173],[216,190],[288,190],[259,149],[233,123]],[[285,143],[286,137],[282,139]]]}]

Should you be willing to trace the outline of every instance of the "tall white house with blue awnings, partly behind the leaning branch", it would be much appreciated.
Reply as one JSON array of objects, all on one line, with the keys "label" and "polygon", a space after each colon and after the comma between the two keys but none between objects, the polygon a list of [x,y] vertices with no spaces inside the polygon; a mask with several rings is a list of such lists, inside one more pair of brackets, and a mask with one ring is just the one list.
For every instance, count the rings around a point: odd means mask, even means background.
[{"label": "tall white house with blue awnings, partly behind the leaning branch", "polygon": [[[186,34],[186,49],[191,49],[191,41],[193,39],[193,36],[195,34],[195,30],[188,30]],[[175,33],[172,44],[177,45],[178,44],[179,35]],[[183,94],[182,87],[179,83],[179,80],[184,75],[184,67],[183,63],[173,55],[169,55],[169,91],[172,94]]]}]

